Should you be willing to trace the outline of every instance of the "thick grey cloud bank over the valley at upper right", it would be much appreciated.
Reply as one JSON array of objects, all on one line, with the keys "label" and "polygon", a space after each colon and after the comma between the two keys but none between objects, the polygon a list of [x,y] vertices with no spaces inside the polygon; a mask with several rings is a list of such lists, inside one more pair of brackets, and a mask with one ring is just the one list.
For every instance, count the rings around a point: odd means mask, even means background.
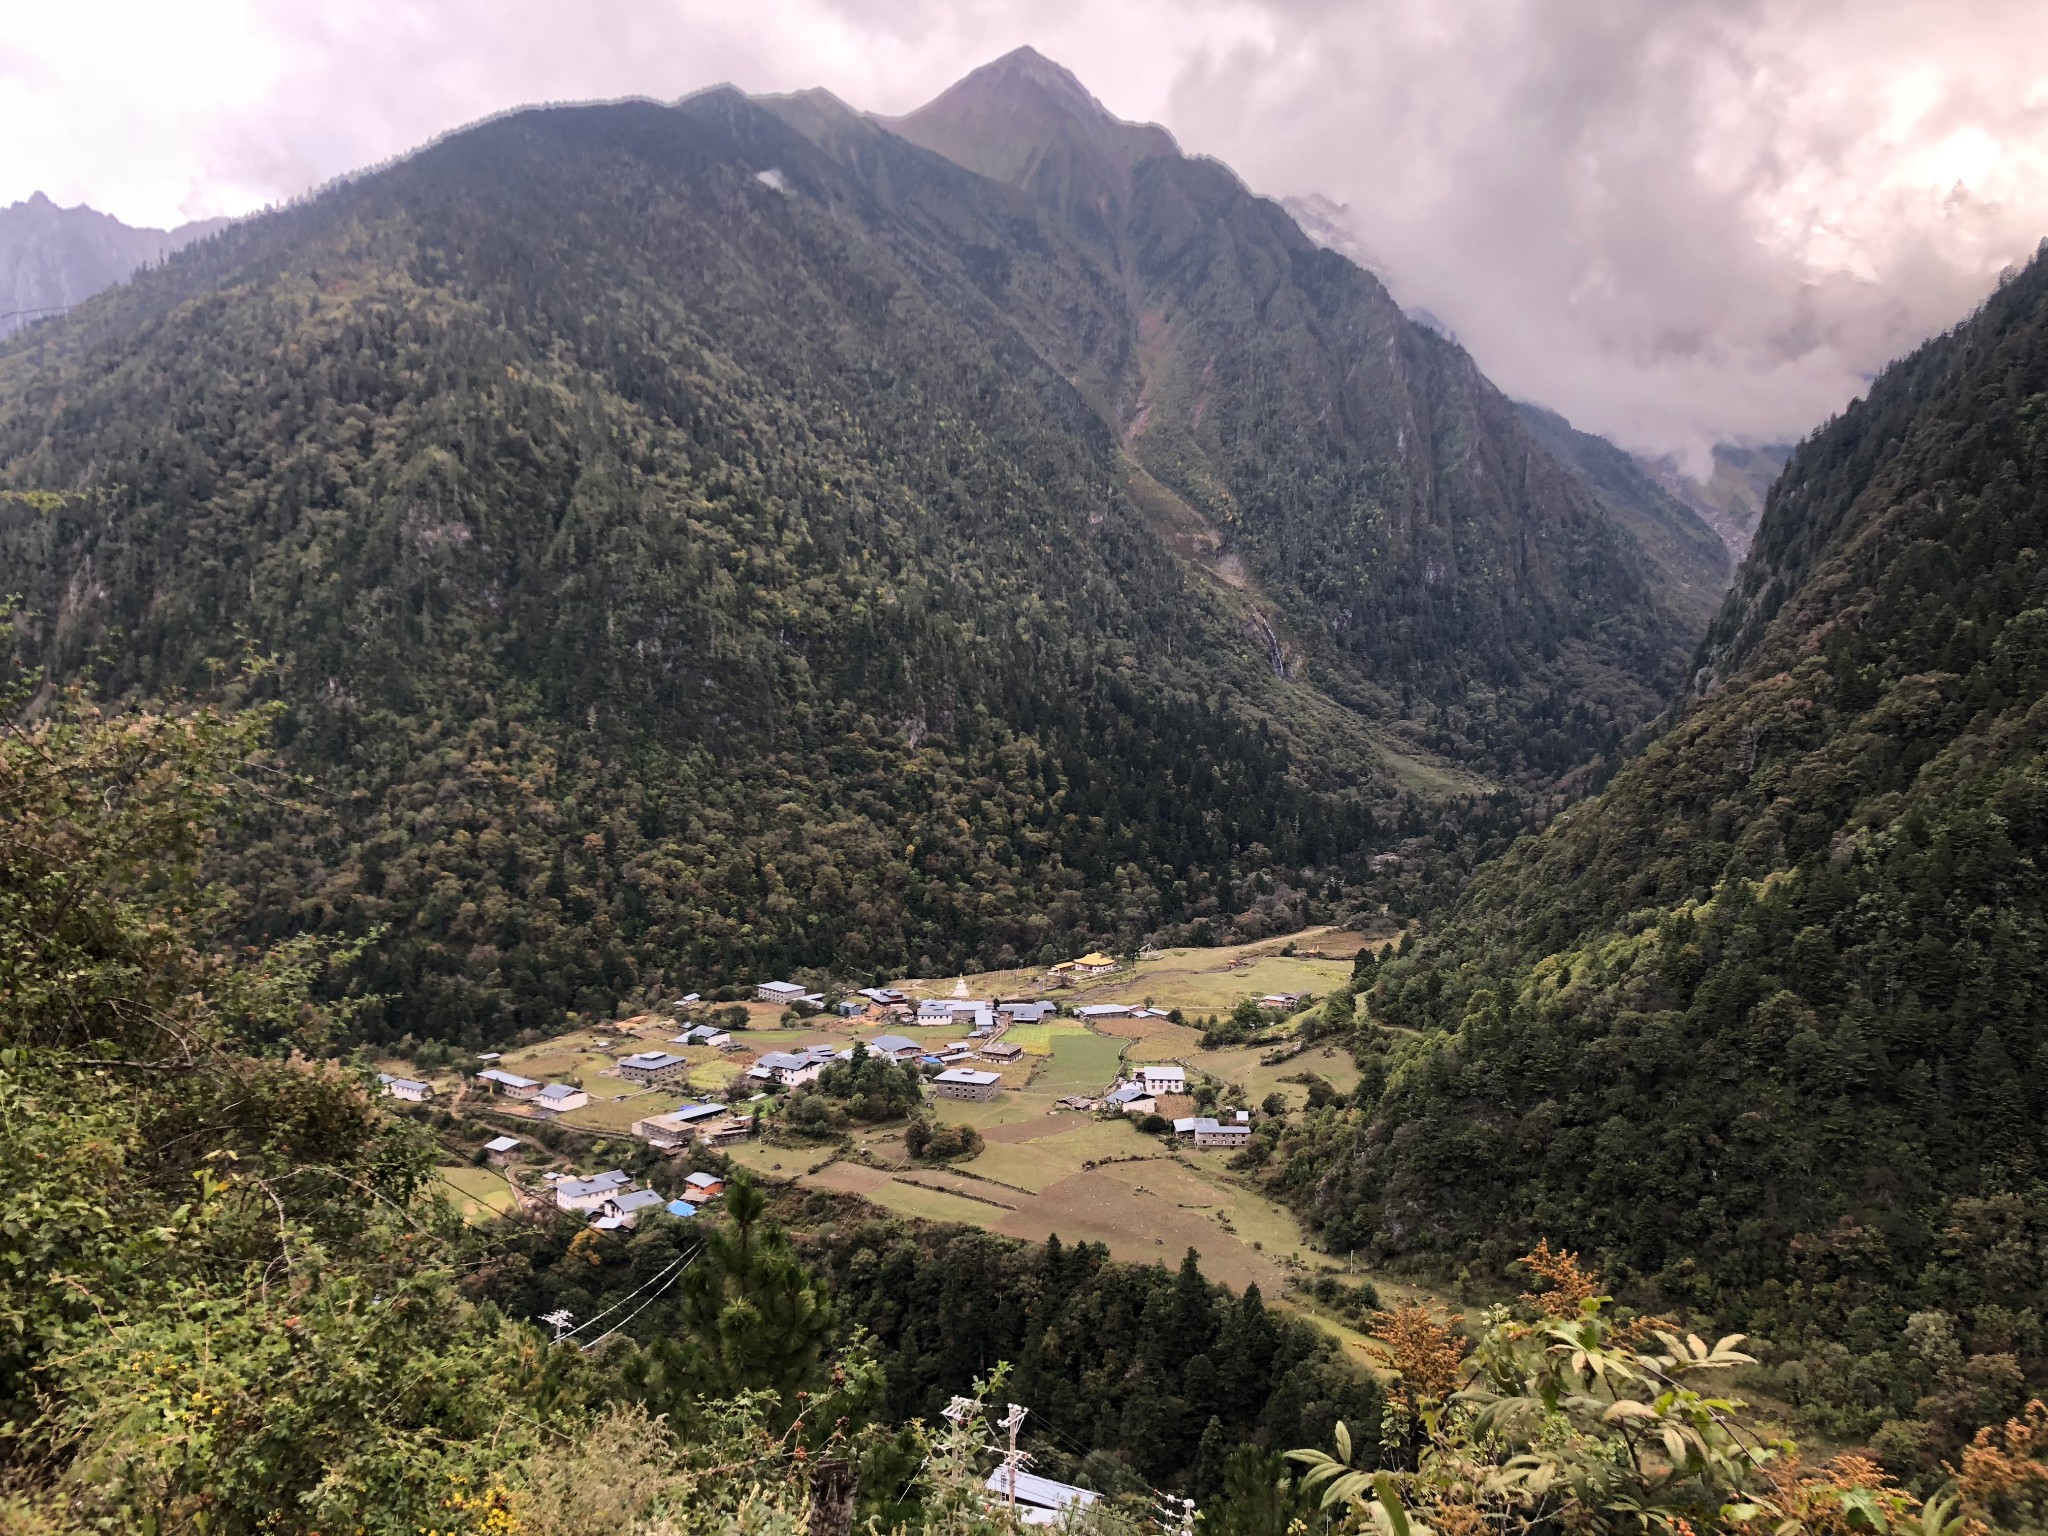
[{"label": "thick grey cloud bank over the valley at upper right", "polygon": [[1509,393],[1628,446],[1798,436],[2048,233],[2038,4],[1284,4],[1167,119],[1350,205]]}]

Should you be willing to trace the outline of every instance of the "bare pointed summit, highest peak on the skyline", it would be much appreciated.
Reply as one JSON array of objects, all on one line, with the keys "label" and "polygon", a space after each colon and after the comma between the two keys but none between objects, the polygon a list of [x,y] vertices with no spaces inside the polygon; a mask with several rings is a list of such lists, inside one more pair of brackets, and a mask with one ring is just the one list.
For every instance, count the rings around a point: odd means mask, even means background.
[{"label": "bare pointed summit, highest peak on the skyline", "polygon": [[1120,178],[1139,160],[1180,154],[1157,123],[1126,123],[1071,70],[1024,45],[983,63],[907,117],[879,119],[911,143],[999,182],[1075,158]]}]

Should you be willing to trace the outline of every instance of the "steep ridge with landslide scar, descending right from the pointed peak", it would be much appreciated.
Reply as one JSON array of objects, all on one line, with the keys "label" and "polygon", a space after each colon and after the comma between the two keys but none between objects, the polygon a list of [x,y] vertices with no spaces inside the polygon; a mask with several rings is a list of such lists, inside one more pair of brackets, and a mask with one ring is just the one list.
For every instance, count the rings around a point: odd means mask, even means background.
[{"label": "steep ridge with landslide scar, descending right from the pointed peak", "polygon": [[1681,616],[1632,532],[1458,346],[1227,168],[1118,123],[1030,49],[881,125],[975,182],[831,106],[784,111],[920,211],[1329,696],[1528,782],[1669,696],[1698,604]]}]

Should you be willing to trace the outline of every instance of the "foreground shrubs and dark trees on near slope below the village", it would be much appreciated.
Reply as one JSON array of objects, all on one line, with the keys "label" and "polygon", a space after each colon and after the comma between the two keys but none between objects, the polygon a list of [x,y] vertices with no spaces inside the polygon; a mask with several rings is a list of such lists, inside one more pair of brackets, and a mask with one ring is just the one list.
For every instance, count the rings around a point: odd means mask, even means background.
[{"label": "foreground shrubs and dark trees on near slope below the village", "polygon": [[[1151,1530],[1182,1489],[1231,1536],[1372,1530],[1403,1505],[1430,1528],[1485,1509],[1620,1536],[1651,1509],[1722,1532],[1737,1499],[1849,1497],[1901,1536],[1954,1536],[1952,1499],[1765,1460],[1694,1391],[1645,1401],[1645,1370],[1741,1356],[1645,1352],[1542,1253],[1548,1323],[1489,1317],[1464,1362],[1434,1319],[1386,1319],[1384,1395],[1192,1253],[1167,1276],[866,1221],[799,1243],[743,1178],[715,1214],[621,1233],[463,1221],[432,1194],[436,1116],[387,1114],[367,1069],[319,1059],[346,1020],[307,983],[342,956],[223,942],[233,913],[201,872],[260,795],[264,715],[106,715],[61,690],[0,733],[8,1532],[1014,1536],[985,1491],[1014,1382],[1040,1409],[1024,1446],[1100,1495],[1083,1536]],[[578,1317],[549,1337],[539,1305]],[[1479,1432],[1444,1413],[1460,1374]],[[938,1403],[967,1411],[895,1417]],[[1309,1452],[1305,1479],[1280,1450],[1309,1434],[1339,1458]],[[1985,1444],[1972,1520],[2038,1499],[2028,1434]],[[1686,1450],[1645,1466],[1636,1438]]]}]

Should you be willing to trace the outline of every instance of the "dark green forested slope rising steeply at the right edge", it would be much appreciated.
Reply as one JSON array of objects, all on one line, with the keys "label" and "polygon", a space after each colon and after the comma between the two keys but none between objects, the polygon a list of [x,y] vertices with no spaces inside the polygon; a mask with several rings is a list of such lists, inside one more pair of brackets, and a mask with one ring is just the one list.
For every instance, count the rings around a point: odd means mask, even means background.
[{"label": "dark green forested slope rising steeply at the right edge", "polygon": [[2036,260],[1798,449],[1661,739],[1380,969],[1378,1018],[1427,1034],[1282,1176],[1331,1235],[1497,1264],[1542,1233],[1786,1354],[1831,1329],[1790,1391],[1862,1434],[1917,1411],[1954,1450],[2015,1407],[2048,1309],[2044,551]]}]

